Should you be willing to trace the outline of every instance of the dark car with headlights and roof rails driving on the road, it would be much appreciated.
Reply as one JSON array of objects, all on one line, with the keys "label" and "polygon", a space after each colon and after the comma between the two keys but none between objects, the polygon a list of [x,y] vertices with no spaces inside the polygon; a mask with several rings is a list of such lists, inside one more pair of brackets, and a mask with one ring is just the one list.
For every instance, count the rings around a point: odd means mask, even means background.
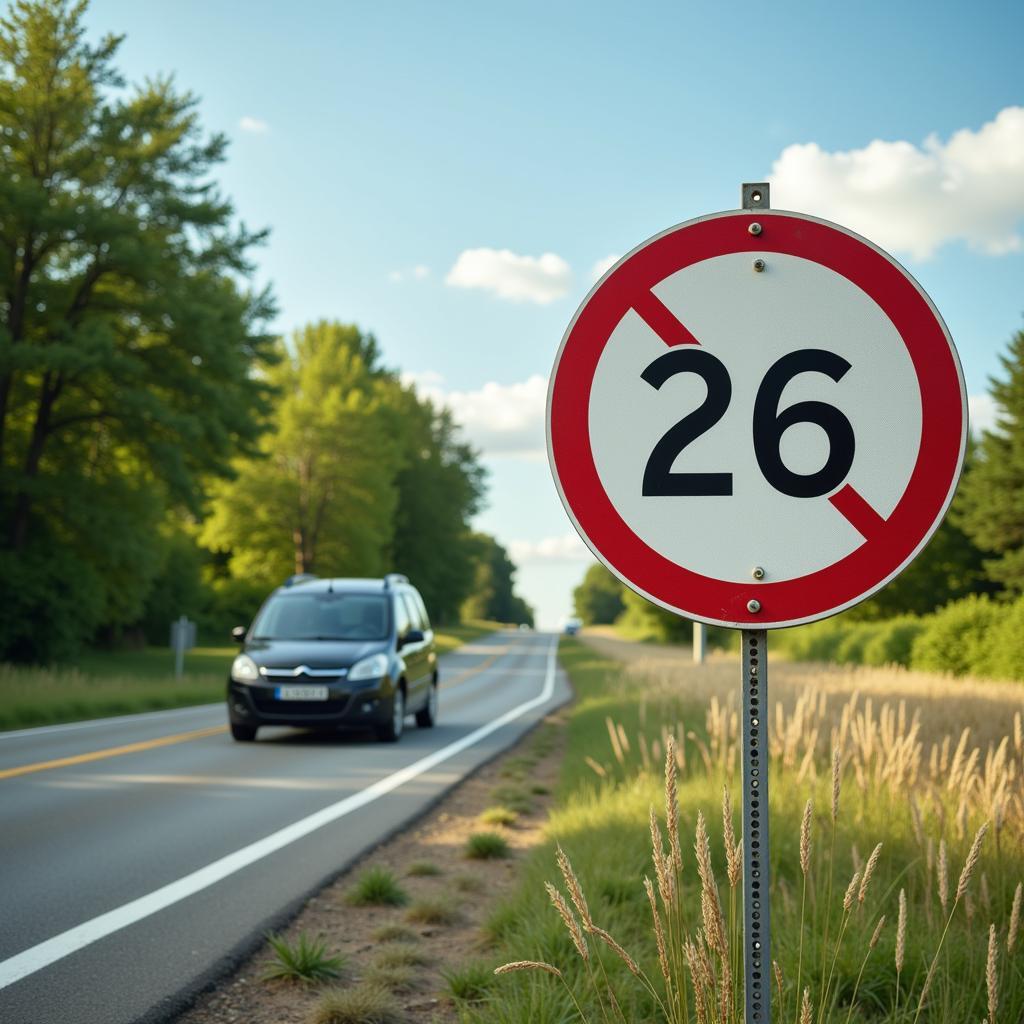
[{"label": "dark car with headlights and roof rails driving on the road", "polygon": [[398,739],[406,716],[437,720],[437,654],[427,609],[403,575],[292,577],[232,637],[242,652],[227,680],[231,735],[261,725],[370,728]]}]

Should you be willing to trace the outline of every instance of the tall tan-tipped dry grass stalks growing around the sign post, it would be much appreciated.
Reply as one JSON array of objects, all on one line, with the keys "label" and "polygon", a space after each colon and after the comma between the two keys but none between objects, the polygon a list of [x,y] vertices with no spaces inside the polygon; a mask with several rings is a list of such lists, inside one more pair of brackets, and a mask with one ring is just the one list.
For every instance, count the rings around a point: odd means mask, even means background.
[{"label": "tall tan-tipped dry grass stalks growing around the sign post", "polygon": [[[586,964],[572,976],[585,983],[574,989],[565,965],[532,962],[558,973],[584,1021],[634,1024],[624,1009],[637,1005],[624,989],[630,982],[647,993],[650,1020],[743,1019],[741,852],[732,805],[737,683],[735,659],[724,658],[695,669],[654,657],[622,673],[617,685],[642,694],[639,728],[607,717],[607,748],[587,763],[599,792],[664,772],[660,813],[652,807],[649,815],[653,879],[637,880],[649,939],[631,950],[604,930],[559,849],[568,898],[550,883],[549,893]],[[780,923],[773,928],[773,938],[780,935],[774,1019],[976,1022],[980,1006],[989,1024],[1016,1021],[998,1014],[1000,1007],[1024,1012],[1021,691],[895,670],[775,665],[769,687],[772,810],[793,828],[772,835],[773,924]],[[705,701],[702,722],[674,714],[681,691],[687,701]],[[705,792],[703,782],[721,787],[715,855],[703,810],[686,815],[691,826],[684,823],[678,794],[690,780],[702,780],[694,792]],[[862,849],[870,850],[866,857]],[[716,859],[724,872],[716,873]],[[980,962],[972,953],[979,943]],[[602,948],[628,970],[609,973]]]}]

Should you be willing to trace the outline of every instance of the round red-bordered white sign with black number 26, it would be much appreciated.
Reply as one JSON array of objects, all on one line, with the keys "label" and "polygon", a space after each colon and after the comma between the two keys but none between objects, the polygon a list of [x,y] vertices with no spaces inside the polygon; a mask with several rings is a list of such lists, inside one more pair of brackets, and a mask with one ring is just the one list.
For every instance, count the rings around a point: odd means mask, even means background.
[{"label": "round red-bordered white sign with black number 26", "polygon": [[624,257],[577,311],[548,396],[555,482],[594,554],[706,623],[812,622],[893,579],[959,476],[952,340],[890,256],[742,210]]}]

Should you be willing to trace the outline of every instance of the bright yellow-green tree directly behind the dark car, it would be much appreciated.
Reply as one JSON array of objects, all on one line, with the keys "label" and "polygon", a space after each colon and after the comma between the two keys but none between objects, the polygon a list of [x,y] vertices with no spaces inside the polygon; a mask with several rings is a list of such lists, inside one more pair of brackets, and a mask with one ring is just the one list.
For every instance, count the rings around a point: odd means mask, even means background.
[{"label": "bright yellow-green tree directly behind the dark car", "polygon": [[230,552],[232,577],[265,586],[388,571],[401,447],[386,404],[394,377],[373,335],[309,325],[267,380],[278,407],[259,451],[216,487],[203,544]]}]

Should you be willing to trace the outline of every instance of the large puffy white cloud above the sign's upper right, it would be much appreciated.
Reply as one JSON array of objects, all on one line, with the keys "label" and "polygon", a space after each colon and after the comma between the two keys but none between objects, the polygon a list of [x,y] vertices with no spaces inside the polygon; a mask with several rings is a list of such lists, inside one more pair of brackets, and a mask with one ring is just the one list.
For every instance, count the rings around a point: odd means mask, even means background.
[{"label": "large puffy white cloud above the sign's upper right", "polygon": [[1016,252],[1024,248],[1024,106],[1007,106],[946,142],[876,139],[837,153],[790,145],[770,180],[773,206],[835,220],[914,259],[954,241],[991,255]]}]

